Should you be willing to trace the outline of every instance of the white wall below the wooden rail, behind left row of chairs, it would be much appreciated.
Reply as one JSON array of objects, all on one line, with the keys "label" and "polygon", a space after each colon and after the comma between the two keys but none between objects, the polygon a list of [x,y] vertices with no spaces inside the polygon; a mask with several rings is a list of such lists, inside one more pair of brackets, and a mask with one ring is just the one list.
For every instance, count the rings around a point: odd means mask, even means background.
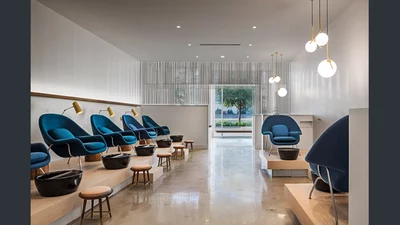
[{"label": "white wall below the wooden rail, behind left row of chairs", "polygon": [[[61,114],[64,109],[72,106],[73,100],[65,100],[65,99],[56,99],[56,98],[44,98],[44,97],[31,97],[31,143],[34,142],[42,142],[44,140],[42,138],[42,134],[39,129],[39,117],[45,113],[57,113]],[[98,114],[99,110],[105,110],[108,106],[111,106],[113,111],[115,112],[114,117],[109,117],[117,126],[119,126],[123,130],[122,121],[120,120],[121,115],[123,115],[126,111],[130,111],[132,107],[130,106],[122,106],[122,105],[107,105],[102,103],[93,103],[93,102],[83,102],[78,101],[81,106],[83,113],[75,114],[74,109],[70,109],[65,112],[65,116],[69,117],[73,121],[75,121],[79,126],[81,126],[86,132],[89,134],[93,134],[92,127],[90,125],[90,116],[93,114]],[[141,109],[140,107],[134,107],[135,110],[139,113],[138,117],[141,117]],[[108,116],[107,112],[101,112],[102,115]],[[139,120],[141,122],[141,120]],[[111,149],[110,151],[116,151]],[[50,151],[52,156],[52,161],[59,160],[60,158],[54,154],[53,151]]]}]

